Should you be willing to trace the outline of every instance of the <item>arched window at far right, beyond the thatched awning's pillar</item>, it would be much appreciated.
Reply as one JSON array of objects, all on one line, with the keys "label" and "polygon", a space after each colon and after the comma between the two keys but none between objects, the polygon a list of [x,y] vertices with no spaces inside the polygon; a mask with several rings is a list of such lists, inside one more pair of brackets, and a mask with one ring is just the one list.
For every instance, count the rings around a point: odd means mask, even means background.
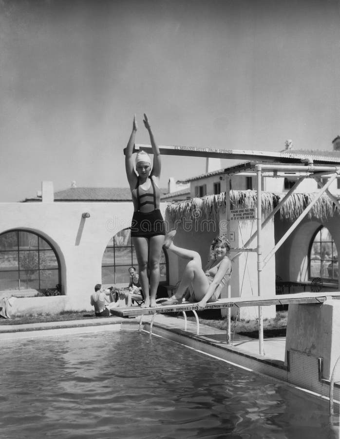
[{"label": "arched window at far right, beyond the thatched awning's pillar", "polygon": [[309,279],[338,281],[338,251],[326,227],[319,227],[309,248]]}]

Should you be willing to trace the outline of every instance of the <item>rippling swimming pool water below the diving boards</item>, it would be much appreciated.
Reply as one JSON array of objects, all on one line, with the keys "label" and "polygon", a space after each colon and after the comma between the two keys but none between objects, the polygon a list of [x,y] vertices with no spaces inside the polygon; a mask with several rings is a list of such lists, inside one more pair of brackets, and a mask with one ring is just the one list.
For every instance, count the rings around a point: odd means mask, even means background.
[{"label": "rippling swimming pool water below the diving boards", "polygon": [[137,331],[2,342],[1,438],[338,438],[328,406]]}]

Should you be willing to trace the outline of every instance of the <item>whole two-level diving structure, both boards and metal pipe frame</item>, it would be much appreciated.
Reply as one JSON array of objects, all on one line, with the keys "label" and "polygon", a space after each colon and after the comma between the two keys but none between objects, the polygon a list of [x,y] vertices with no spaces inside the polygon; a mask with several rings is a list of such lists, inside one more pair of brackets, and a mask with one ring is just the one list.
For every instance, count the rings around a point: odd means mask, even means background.
[{"label": "whole two-level diving structure, both boards and metal pipe frame", "polygon": [[[311,212],[313,206],[316,205],[321,197],[328,196],[331,200],[332,208],[340,212],[340,200],[337,194],[331,192],[333,182],[340,179],[340,155],[328,155],[327,153],[320,154],[319,151],[313,153],[312,151],[306,151],[303,153],[295,153],[292,150],[285,150],[282,152],[274,151],[259,151],[259,150],[246,150],[246,149],[224,149],[224,148],[201,148],[198,146],[185,146],[185,145],[158,145],[161,155],[173,155],[173,156],[185,156],[185,157],[203,157],[203,158],[219,158],[228,160],[238,160],[243,161],[243,163],[237,163],[235,166],[229,166],[224,169],[225,175],[225,188],[222,188],[222,192],[226,194],[226,221],[223,230],[220,229],[220,233],[227,236],[230,241],[230,224],[232,221],[237,221],[238,218],[232,217],[232,205],[230,202],[230,188],[231,180],[234,175],[244,175],[244,176],[254,176],[256,179],[256,217],[253,214],[252,220],[256,220],[256,231],[254,231],[251,237],[242,245],[242,248],[231,248],[231,252],[236,255],[233,256],[232,260],[238,258],[244,252],[253,251],[257,253],[257,286],[258,286],[258,296],[247,297],[247,298],[235,298],[231,297],[231,285],[227,282],[227,298],[219,299],[216,302],[208,303],[205,309],[226,309],[227,314],[227,343],[230,344],[230,319],[231,319],[231,308],[241,308],[256,306],[258,307],[258,321],[259,321],[259,353],[264,355],[264,337],[263,337],[263,314],[262,307],[269,305],[286,305],[286,304],[322,304],[332,299],[339,299],[340,292],[331,293],[298,293],[290,295],[280,295],[280,296],[270,296],[264,297],[262,291],[264,291],[264,276],[263,271],[270,259],[275,255],[278,249],[283,245],[283,243],[292,235],[294,230],[299,226],[299,224],[304,220],[304,218]],[[150,144],[135,143],[133,148],[133,153],[144,150],[147,153],[152,154],[152,147]],[[126,153],[126,148],[124,149],[124,154]],[[221,171],[223,172],[223,171]],[[263,192],[263,177],[292,177],[294,184],[288,189],[284,197],[272,207],[271,212],[263,212],[262,208],[262,192]],[[283,236],[275,242],[272,249],[263,255],[263,232],[264,227],[269,221],[274,219],[277,212],[283,207],[283,204],[288,201],[290,197],[293,196],[294,192],[299,188],[299,185],[305,179],[315,180],[317,187],[319,188],[315,192],[315,197],[303,206],[302,212],[299,212],[298,217],[292,222],[290,227],[285,231]],[[338,180],[339,181],[339,180]],[[336,183],[336,181],[335,181]],[[245,218],[244,220],[248,220]],[[249,219],[250,220],[250,219]],[[253,245],[255,239],[257,240],[256,247]],[[340,302],[339,302],[340,304]],[[308,308],[308,307],[307,307]],[[318,307],[311,307],[317,309]],[[322,307],[321,307],[322,308]],[[196,311],[198,310],[197,303],[184,302],[180,305],[173,306],[161,306],[157,308],[116,308],[112,312],[121,317],[134,317],[140,316],[140,321],[142,321],[143,316],[152,315],[152,321],[157,314],[171,313],[171,312],[182,312],[185,316],[186,311],[192,311],[197,320],[198,317]],[[340,312],[340,306],[339,306]],[[186,317],[185,317],[186,318]],[[141,325],[141,323],[140,323]],[[199,329],[197,329],[198,331]],[[340,331],[339,331],[340,333]]]}]

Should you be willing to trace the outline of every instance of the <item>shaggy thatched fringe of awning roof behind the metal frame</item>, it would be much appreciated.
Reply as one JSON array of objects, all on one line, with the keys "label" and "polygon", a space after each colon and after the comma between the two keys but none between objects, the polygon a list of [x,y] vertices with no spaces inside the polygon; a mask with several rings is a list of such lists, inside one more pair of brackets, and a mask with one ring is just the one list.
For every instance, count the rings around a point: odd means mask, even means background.
[{"label": "shaggy thatched fringe of awning roof behind the metal frame", "polygon": [[[262,209],[269,214],[283,199],[285,194],[262,192]],[[316,198],[316,193],[293,193],[280,209],[281,218],[296,220],[308,204]],[[337,197],[339,199],[339,197]],[[230,209],[255,208],[257,204],[256,191],[230,191]],[[171,221],[178,220],[218,220],[219,210],[226,205],[226,194],[208,195],[203,198],[193,198],[180,202],[172,202],[167,207]],[[323,194],[314,204],[307,218],[326,220],[334,215],[333,201]]]}]

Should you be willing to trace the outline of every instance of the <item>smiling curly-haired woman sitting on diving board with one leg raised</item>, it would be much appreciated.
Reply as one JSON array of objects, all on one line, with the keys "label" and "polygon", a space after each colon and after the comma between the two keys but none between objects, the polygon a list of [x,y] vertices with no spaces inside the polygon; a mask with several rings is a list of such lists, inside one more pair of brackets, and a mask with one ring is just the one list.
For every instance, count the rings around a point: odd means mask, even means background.
[{"label": "smiling curly-haired woman sitting on diving board with one leg raised", "polygon": [[202,310],[208,302],[214,302],[219,299],[221,290],[230,278],[231,262],[227,257],[230,251],[230,244],[223,236],[216,237],[211,243],[213,259],[202,268],[200,255],[185,248],[177,247],[173,243],[175,230],[172,230],[165,238],[164,247],[189,262],[184,270],[182,280],[176,293],[168,300],[162,302],[162,305],[176,305],[182,303],[186,289],[191,285],[193,293],[190,296],[190,302],[198,302],[198,309]]}]

